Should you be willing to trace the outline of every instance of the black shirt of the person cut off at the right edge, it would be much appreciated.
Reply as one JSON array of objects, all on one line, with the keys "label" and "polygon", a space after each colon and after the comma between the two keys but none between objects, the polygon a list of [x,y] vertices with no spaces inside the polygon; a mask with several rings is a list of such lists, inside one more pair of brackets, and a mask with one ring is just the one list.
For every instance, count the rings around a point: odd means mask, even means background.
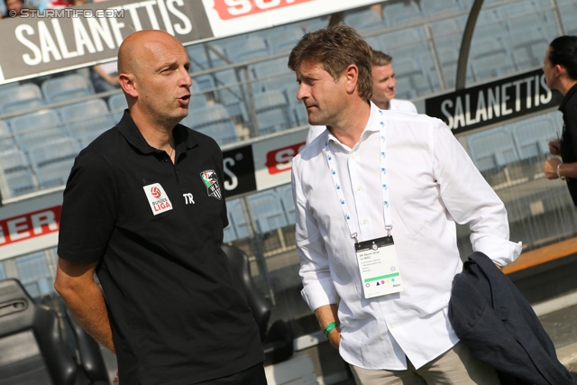
[{"label": "black shirt of the person cut off at the right edge", "polygon": [[[563,135],[561,137],[561,158],[563,163],[577,161],[577,84],[563,97],[559,111],[563,113]],[[577,206],[577,179],[567,178],[567,187]]]}]

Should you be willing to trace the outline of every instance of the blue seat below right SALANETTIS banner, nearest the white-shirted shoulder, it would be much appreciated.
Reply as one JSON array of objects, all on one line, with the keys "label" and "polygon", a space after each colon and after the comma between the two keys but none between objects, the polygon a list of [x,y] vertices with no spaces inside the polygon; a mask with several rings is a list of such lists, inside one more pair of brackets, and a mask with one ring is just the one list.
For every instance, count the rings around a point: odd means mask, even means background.
[{"label": "blue seat below right SALANETTIS banner, nearest the white-shirted shoulder", "polygon": [[513,136],[502,128],[467,137],[467,147],[471,159],[478,170],[500,170],[508,163],[519,160]]}]

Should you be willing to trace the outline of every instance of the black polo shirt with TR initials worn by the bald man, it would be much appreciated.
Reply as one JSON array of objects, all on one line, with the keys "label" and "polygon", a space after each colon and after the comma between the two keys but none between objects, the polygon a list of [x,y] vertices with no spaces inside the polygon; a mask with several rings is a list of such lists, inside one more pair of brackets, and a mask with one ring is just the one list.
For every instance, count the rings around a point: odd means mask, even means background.
[{"label": "black polo shirt with TR initials worn by the bald man", "polygon": [[78,154],[58,253],[100,261],[121,384],[188,385],[259,362],[259,330],[220,248],[228,225],[222,152],[183,125],[176,164],[128,112]]}]

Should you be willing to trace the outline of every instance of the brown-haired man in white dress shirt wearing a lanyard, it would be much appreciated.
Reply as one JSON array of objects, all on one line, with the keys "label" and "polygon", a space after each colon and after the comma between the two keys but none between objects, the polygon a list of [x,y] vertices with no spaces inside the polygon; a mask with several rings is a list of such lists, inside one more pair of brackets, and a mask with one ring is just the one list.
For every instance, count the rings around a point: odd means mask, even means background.
[{"label": "brown-haired man in white dress shirt wearing a lanyard", "polygon": [[328,128],[292,166],[302,296],[321,330],[358,384],[498,384],[447,304],[455,222],[499,266],[521,252],[503,203],[443,122],[371,103],[371,49],[352,28],[307,33],[289,68],[309,124]]}]

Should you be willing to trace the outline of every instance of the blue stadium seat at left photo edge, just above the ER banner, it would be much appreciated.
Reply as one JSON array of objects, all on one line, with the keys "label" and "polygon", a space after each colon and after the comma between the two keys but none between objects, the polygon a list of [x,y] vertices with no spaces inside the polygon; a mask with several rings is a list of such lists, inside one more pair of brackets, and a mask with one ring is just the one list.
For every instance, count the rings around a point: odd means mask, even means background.
[{"label": "blue stadium seat at left photo edge, just above the ER banner", "polygon": [[10,197],[36,191],[32,170],[23,151],[11,149],[0,152],[0,167],[4,171]]}]

